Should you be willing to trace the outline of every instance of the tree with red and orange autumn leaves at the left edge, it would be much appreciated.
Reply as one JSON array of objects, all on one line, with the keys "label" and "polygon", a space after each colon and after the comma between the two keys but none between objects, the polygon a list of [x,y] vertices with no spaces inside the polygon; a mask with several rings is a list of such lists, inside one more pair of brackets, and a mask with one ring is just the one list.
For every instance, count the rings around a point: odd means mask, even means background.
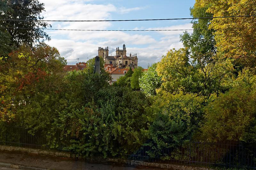
[{"label": "tree with red and orange autumn leaves at the left edge", "polygon": [[40,44],[33,49],[21,46],[6,62],[2,62],[2,120],[29,126],[47,126],[46,122],[52,120],[54,115],[51,109],[58,104],[63,61],[56,48]]}]

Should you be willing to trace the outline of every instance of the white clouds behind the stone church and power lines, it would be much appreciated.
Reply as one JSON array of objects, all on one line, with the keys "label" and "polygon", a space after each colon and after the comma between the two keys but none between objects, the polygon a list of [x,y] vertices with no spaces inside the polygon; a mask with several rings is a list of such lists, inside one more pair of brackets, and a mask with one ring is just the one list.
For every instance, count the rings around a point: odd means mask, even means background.
[{"label": "white clouds behind the stone church and power lines", "polygon": [[[142,10],[140,7],[118,8],[113,4],[92,4],[92,0],[42,0],[45,20],[106,20],[111,19],[113,13],[129,13]],[[89,4],[88,4],[89,3]],[[111,22],[58,22],[51,23],[53,28],[59,29],[109,29]],[[191,29],[191,24],[156,27],[149,29]],[[141,28],[134,28],[141,29]],[[144,28],[143,28],[144,29]],[[115,55],[116,47],[126,44],[127,53],[137,53],[139,65],[147,67],[161,60],[172,48],[181,48],[180,34],[183,31],[159,31],[154,33],[113,32],[113,31],[49,31],[52,40],[49,45],[56,47],[65,57],[68,64],[87,61],[98,55],[98,47],[109,47],[109,55]]]}]

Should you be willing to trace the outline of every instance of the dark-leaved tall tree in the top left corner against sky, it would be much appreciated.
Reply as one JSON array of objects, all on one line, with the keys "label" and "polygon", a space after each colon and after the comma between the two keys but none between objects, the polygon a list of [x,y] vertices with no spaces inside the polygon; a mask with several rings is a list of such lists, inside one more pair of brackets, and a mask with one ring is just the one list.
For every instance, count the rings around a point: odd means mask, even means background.
[{"label": "dark-leaved tall tree in the top left corner against sky", "polygon": [[[4,0],[1,1],[2,6],[7,6],[8,10],[1,11],[3,19],[25,19],[36,21],[13,21],[5,20],[0,21],[0,25],[4,31],[10,34],[10,45],[19,47],[26,43],[30,47],[34,42],[50,40],[50,37],[43,31],[48,24],[43,21],[44,19],[40,14],[44,11],[44,4],[39,3],[38,0]],[[31,29],[19,29],[31,28]]]}]

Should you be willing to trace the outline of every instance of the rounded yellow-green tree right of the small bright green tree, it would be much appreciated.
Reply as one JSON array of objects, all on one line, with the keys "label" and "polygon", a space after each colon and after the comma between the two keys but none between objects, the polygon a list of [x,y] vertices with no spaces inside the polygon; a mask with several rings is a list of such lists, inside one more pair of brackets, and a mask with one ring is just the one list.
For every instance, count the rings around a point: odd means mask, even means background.
[{"label": "rounded yellow-green tree right of the small bright green tree", "polygon": [[[183,88],[186,92],[199,92],[196,71],[189,61],[189,52],[185,48],[170,50],[157,63],[157,74],[162,77],[162,90],[178,92]],[[199,89],[198,89],[199,88]]]}]

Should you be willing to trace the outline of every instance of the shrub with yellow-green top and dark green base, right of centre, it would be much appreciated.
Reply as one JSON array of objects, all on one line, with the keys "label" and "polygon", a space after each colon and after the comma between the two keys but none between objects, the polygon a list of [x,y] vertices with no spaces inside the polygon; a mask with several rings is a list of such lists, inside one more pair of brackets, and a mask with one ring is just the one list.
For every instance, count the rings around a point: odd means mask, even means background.
[{"label": "shrub with yellow-green top and dark green base, right of centre", "polygon": [[156,96],[150,110],[155,117],[149,126],[146,145],[151,148],[148,152],[151,157],[169,159],[167,154],[163,154],[163,149],[175,149],[190,140],[202,121],[204,97],[183,92],[162,93]]}]

